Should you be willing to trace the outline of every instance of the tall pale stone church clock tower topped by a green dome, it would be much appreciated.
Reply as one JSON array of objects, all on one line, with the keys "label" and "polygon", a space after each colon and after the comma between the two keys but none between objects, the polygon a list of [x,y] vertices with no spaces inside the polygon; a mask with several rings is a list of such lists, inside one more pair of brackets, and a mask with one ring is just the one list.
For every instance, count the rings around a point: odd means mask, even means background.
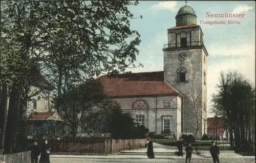
[{"label": "tall pale stone church clock tower topped by a green dome", "polygon": [[[183,96],[181,130],[201,137],[207,133],[207,56],[204,34],[197,25],[193,8],[185,5],[178,11],[176,27],[168,32],[164,44],[164,81]],[[198,121],[198,122],[197,122]]]}]

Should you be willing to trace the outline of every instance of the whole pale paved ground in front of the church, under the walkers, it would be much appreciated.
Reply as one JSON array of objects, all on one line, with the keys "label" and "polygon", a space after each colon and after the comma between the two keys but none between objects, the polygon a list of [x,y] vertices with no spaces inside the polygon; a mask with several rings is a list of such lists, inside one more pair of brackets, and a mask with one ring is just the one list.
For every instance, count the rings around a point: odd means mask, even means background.
[{"label": "whole pale paved ground in front of the church, under the walkers", "polygon": [[[148,159],[146,156],[146,148],[136,150],[121,151],[116,155],[93,156],[93,155],[50,155],[51,163],[82,163],[82,162],[185,162],[184,157],[174,155],[177,151],[176,147],[153,144],[155,159]],[[221,151],[220,161],[222,163],[250,163],[255,161],[255,156],[241,156],[232,151]],[[193,154],[191,163],[212,163],[212,159],[208,151],[201,151],[201,154]]]}]

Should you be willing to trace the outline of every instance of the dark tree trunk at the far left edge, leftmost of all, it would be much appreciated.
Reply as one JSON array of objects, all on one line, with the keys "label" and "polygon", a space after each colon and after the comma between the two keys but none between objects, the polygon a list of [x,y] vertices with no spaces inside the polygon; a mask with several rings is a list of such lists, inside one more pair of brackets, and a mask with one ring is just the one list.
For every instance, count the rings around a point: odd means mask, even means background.
[{"label": "dark tree trunk at the far left edge, leftmost of all", "polygon": [[6,136],[6,125],[7,125],[7,86],[2,83],[1,90],[1,103],[0,103],[0,153],[4,152],[5,147],[5,136]]}]

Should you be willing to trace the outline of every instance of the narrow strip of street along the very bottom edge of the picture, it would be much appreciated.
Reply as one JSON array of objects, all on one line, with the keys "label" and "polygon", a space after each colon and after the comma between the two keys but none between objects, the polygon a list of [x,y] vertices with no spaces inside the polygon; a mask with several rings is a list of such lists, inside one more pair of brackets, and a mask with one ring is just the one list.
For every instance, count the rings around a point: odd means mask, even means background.
[{"label": "narrow strip of street along the very bottom edge of the picture", "polygon": [[[254,162],[255,158],[220,158],[222,163],[250,163]],[[185,162],[185,158],[156,158],[156,159],[141,159],[141,158],[124,158],[124,159],[106,159],[106,158],[51,158],[51,163],[84,163],[84,162],[92,162],[92,163],[102,163],[102,162],[122,162],[122,163],[164,163],[164,162]],[[211,158],[194,158],[191,159],[191,163],[212,163]]]}]

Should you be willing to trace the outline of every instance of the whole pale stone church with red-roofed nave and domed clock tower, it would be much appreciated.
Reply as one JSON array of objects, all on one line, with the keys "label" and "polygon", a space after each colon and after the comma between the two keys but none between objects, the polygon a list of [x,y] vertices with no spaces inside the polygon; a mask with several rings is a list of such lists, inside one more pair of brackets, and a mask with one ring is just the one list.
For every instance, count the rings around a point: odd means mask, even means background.
[{"label": "whole pale stone church with red-roofed nave and domed clock tower", "polygon": [[[207,132],[207,56],[193,8],[183,6],[167,29],[163,71],[100,76],[104,93],[157,134]],[[160,47],[159,47],[160,48]]]}]

